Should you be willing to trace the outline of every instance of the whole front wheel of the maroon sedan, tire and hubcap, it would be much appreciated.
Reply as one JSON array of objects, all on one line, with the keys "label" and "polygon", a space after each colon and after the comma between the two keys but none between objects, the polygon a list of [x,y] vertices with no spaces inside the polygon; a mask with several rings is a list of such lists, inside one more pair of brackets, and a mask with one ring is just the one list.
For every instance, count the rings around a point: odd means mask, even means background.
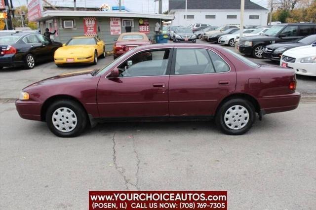
[{"label": "whole front wheel of the maroon sedan, tire and hubcap", "polygon": [[76,137],[85,129],[87,116],[77,102],[56,101],[47,109],[46,123],[49,130],[58,137]]}]

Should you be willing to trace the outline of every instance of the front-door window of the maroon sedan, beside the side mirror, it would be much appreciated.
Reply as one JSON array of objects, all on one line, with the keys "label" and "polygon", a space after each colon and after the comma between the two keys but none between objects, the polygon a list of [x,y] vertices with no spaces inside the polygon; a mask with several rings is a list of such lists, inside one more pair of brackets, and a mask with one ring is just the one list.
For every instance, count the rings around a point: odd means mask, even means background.
[{"label": "front-door window of the maroon sedan, beside the side mirror", "polygon": [[118,66],[120,77],[166,75],[170,50],[138,53]]}]

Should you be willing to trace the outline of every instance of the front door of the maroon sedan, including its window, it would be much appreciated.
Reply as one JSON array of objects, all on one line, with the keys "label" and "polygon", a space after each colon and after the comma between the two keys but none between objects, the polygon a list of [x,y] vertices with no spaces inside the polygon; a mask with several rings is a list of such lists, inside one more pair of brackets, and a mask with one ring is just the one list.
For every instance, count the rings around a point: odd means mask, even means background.
[{"label": "front door of the maroon sedan, including its window", "polygon": [[172,49],[143,51],[119,66],[119,76],[102,76],[97,89],[100,117],[169,116],[168,83]]}]

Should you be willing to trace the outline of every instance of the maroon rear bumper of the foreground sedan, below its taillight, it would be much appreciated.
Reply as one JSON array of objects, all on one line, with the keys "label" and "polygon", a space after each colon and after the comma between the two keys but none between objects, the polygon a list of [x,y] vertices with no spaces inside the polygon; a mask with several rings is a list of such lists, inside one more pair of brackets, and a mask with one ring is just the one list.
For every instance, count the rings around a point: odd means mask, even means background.
[{"label": "maroon rear bumper of the foreground sedan, below its taillight", "polygon": [[300,103],[300,99],[301,94],[299,92],[294,92],[288,95],[261,98],[258,99],[258,102],[261,106],[261,110],[266,114],[270,114],[296,109]]}]

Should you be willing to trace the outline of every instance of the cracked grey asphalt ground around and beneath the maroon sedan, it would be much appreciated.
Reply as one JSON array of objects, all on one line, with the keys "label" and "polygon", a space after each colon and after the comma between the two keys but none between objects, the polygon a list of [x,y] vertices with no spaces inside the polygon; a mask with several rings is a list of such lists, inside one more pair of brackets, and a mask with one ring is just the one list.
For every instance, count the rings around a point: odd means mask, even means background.
[{"label": "cracked grey asphalt ground around and beneath the maroon sedan", "polygon": [[89,190],[126,189],[227,190],[229,209],[315,208],[316,80],[309,77],[297,76],[297,109],[265,115],[242,136],[224,135],[214,122],[157,122],[104,123],[62,139],[18,116],[13,102],[23,87],[112,60],[0,70],[0,209],[87,209]]}]

